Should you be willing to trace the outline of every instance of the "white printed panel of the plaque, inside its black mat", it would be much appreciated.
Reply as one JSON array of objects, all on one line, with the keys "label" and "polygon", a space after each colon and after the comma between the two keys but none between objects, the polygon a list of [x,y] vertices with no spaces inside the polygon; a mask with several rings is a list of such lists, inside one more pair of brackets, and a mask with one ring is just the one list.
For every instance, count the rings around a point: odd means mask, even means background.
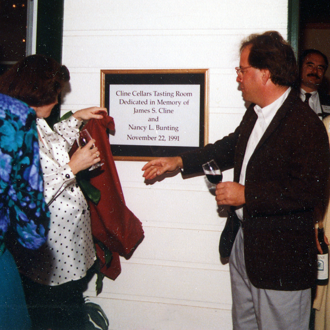
[{"label": "white printed panel of the plaque, inside its black mat", "polygon": [[200,85],[110,84],[113,145],[199,147]]}]

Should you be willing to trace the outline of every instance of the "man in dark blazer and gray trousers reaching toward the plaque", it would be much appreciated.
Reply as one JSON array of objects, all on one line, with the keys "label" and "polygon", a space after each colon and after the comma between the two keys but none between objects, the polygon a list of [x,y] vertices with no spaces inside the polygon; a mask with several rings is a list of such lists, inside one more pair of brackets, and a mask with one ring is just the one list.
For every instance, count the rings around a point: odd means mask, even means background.
[{"label": "man in dark blazer and gray trousers reaching toward the plaque", "polygon": [[293,88],[294,52],[278,32],[249,36],[240,54],[237,82],[251,105],[235,132],[142,170],[149,180],[179,168],[202,173],[212,159],[220,169],[234,168],[233,182],[215,191],[218,205],[230,205],[227,224],[240,226],[228,253],[233,330],[307,330],[317,270],[314,209],[326,204],[329,175],[327,134]]}]

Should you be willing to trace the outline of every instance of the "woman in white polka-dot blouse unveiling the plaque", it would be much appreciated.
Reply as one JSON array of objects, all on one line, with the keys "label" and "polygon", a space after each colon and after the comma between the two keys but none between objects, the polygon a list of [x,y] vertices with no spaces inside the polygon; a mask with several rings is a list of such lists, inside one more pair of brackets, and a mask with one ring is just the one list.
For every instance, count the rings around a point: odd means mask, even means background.
[{"label": "woman in white polka-dot blouse unveiling the plaque", "polygon": [[49,205],[47,243],[38,251],[21,251],[16,262],[33,329],[83,329],[83,296],[95,261],[90,215],[75,175],[100,161],[94,140],[69,158],[83,121],[101,119],[105,108],[75,112],[50,129],[46,120],[70,79],[68,69],[43,55],[31,55],[0,77],[0,92],[20,99],[35,110],[44,195]]}]

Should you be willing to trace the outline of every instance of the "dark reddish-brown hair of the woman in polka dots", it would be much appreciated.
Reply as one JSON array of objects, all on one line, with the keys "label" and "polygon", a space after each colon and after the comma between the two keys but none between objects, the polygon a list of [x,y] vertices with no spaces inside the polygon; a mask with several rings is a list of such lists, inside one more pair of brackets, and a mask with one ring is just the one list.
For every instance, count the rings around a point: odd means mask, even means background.
[{"label": "dark reddish-brown hair of the woman in polka dots", "polygon": [[69,80],[66,66],[44,55],[31,55],[0,76],[0,93],[39,107],[54,103]]}]

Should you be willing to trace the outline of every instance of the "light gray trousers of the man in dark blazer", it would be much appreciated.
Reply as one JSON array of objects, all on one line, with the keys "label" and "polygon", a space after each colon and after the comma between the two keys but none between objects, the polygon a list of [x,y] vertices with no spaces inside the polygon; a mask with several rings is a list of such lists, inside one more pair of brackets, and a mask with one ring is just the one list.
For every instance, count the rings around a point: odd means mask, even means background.
[{"label": "light gray trousers of the man in dark blazer", "polygon": [[233,330],[308,330],[311,289],[264,290],[248,279],[240,228],[229,258]]}]

